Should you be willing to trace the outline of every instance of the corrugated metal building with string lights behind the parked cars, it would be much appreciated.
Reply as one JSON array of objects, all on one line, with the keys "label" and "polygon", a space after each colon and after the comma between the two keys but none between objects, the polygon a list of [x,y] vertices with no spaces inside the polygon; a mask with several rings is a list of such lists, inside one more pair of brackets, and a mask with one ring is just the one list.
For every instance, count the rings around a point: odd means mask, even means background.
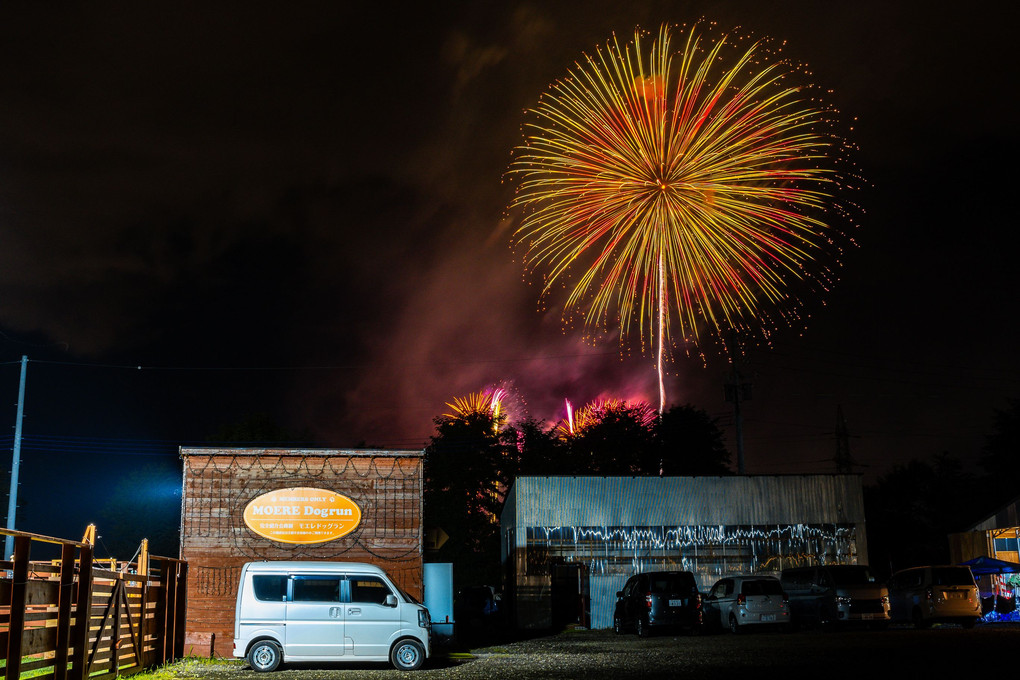
[{"label": "corrugated metal building with string lights behind the parked cars", "polygon": [[612,625],[634,573],[724,575],[867,564],[860,475],[519,477],[500,521],[521,628]]}]

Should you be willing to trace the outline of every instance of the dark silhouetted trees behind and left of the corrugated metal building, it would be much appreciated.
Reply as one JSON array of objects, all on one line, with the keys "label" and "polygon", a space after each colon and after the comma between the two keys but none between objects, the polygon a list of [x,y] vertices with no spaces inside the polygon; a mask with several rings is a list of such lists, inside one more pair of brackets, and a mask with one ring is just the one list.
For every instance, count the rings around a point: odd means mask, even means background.
[{"label": "dark silhouetted trees behind and left of the corrugated metal building", "polygon": [[718,424],[691,405],[661,416],[645,404],[602,402],[571,423],[507,422],[484,400],[460,400],[434,419],[425,448],[425,526],[448,541],[434,557],[456,562],[464,582],[499,582],[499,518],[522,475],[732,474]]}]

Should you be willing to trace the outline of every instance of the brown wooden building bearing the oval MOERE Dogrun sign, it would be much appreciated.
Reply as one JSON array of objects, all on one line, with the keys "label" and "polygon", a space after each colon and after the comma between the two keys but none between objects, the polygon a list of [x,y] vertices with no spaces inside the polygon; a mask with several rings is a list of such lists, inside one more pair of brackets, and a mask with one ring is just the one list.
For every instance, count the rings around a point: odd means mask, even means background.
[{"label": "brown wooden building bearing the oval MOERE Dogrun sign", "polygon": [[241,567],[367,562],[422,594],[421,451],[182,448],[188,653],[231,657]]}]

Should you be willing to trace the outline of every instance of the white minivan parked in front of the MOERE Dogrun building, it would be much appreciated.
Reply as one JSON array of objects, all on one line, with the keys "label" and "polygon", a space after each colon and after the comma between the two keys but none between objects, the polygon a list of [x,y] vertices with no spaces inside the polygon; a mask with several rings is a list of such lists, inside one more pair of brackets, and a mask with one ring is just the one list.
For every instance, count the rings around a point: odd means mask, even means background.
[{"label": "white minivan parked in front of the MOERE Dogrun building", "polygon": [[413,671],[431,647],[428,610],[369,564],[249,562],[234,621],[234,656],[256,671],[323,661]]}]

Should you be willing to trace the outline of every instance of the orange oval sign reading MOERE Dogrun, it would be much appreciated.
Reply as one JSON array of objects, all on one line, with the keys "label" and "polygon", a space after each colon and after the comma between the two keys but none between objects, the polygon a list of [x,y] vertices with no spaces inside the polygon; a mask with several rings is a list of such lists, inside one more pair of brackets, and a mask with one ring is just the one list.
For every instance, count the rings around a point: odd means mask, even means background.
[{"label": "orange oval sign reading MOERE Dogrun", "polygon": [[245,524],[280,543],[324,543],[354,531],[361,508],[342,493],[325,488],[278,488],[245,507]]}]

